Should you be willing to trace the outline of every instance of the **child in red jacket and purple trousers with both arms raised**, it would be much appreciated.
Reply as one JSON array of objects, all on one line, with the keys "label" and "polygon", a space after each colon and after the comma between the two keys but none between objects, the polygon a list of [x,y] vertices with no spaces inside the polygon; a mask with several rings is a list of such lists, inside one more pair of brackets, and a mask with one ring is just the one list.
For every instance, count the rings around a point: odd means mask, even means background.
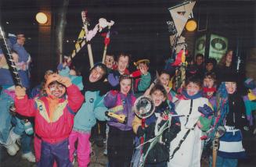
[{"label": "child in red jacket and purple trousers with both arms raised", "polygon": [[70,79],[58,74],[47,77],[45,89],[47,96],[28,99],[25,88],[16,87],[16,112],[35,117],[35,133],[42,140],[38,166],[50,167],[54,160],[58,166],[71,166],[68,136],[74,123],[74,112],[85,98]]}]

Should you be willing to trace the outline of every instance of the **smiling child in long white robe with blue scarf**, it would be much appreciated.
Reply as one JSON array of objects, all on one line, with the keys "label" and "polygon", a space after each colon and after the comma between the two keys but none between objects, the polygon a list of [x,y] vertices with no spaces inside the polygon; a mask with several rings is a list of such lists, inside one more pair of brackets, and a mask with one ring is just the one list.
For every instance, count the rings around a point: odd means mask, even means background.
[{"label": "smiling child in long white robe with blue scarf", "polygon": [[[211,125],[212,109],[207,98],[202,97],[200,78],[193,76],[186,80],[186,87],[175,106],[180,117],[181,131],[171,141],[171,159],[168,166],[200,166],[203,143],[200,137]],[[182,144],[179,143],[182,141]]]}]

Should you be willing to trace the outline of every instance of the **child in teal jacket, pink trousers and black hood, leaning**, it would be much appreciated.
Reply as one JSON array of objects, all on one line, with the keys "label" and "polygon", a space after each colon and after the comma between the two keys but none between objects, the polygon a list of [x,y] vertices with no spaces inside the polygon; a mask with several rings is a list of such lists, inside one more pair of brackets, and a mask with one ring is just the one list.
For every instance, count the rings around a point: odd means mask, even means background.
[{"label": "child in teal jacket, pink trousers and black hood, leaning", "polygon": [[74,117],[73,130],[70,133],[70,161],[74,161],[75,143],[78,141],[78,166],[88,166],[90,162],[91,146],[89,137],[92,127],[96,125],[96,119],[105,121],[107,119],[106,107],[103,104],[103,96],[107,87],[106,66],[102,63],[96,64],[90,72],[85,75],[84,91],[86,101]]}]

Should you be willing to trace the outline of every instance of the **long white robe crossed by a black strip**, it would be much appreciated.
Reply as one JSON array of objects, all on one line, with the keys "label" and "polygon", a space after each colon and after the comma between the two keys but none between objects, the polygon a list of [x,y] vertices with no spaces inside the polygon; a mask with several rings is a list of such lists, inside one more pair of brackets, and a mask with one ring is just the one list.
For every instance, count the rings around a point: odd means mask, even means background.
[{"label": "long white robe crossed by a black strip", "polygon": [[[189,115],[190,101],[191,100],[181,100],[178,102],[178,105],[175,107],[178,115]],[[186,126],[186,116],[179,118],[181,131],[178,133],[177,137],[171,141],[170,156],[187,130],[193,128],[193,125],[197,123],[201,115],[200,112],[198,112],[198,107],[203,107],[204,104],[208,104],[207,98],[197,98],[193,100],[193,109],[191,115],[189,115],[189,121]],[[176,151],[174,157],[168,162],[168,167],[199,167],[203,150],[202,140],[200,140],[201,136],[202,131],[197,126],[194,130],[190,130],[186,140],[183,141],[179,150]]]}]

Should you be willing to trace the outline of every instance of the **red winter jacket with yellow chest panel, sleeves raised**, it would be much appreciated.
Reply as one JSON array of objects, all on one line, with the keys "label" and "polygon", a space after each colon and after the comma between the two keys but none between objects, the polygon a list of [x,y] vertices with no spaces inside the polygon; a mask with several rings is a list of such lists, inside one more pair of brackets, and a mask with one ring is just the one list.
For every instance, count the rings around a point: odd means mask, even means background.
[{"label": "red winter jacket with yellow chest panel, sleeves raised", "polygon": [[[52,116],[49,115],[49,97],[28,99],[15,98],[16,112],[20,115],[34,116],[35,133],[49,143],[65,140],[74,124],[74,112],[78,112],[84,96],[78,87],[67,87],[67,99],[60,98]],[[52,100],[53,101],[53,100]]]}]

